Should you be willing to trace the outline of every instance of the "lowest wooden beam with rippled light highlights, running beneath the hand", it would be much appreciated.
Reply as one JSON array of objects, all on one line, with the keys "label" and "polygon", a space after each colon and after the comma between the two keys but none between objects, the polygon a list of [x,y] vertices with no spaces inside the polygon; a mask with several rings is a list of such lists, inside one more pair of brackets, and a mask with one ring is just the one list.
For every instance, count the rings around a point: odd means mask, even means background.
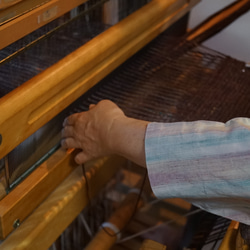
[{"label": "lowest wooden beam with rippled light highlights, running beneath the hand", "polygon": [[[122,158],[103,158],[90,163],[87,172],[90,196],[95,196],[124,164]],[[108,171],[107,171],[108,169]],[[86,181],[78,167],[58,188],[0,245],[0,249],[45,250],[88,203]]]}]

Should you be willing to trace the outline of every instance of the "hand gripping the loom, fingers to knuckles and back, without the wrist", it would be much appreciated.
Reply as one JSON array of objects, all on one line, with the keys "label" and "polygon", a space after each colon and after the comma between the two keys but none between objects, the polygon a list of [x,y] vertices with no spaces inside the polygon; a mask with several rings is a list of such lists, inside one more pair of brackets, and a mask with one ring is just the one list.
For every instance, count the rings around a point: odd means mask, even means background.
[{"label": "hand gripping the loom, fingers to knuckles and back, without the wrist", "polygon": [[64,120],[61,145],[65,149],[81,149],[75,157],[78,164],[114,154],[113,124],[125,118],[123,111],[111,101],[92,104],[89,111],[73,114]]}]

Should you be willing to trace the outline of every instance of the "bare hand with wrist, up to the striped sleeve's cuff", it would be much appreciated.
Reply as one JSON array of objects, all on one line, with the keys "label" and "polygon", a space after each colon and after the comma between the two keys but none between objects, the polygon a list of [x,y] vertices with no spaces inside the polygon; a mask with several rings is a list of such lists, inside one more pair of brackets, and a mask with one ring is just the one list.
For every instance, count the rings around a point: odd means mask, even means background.
[{"label": "bare hand with wrist, up to the striped sleeve's cuff", "polygon": [[129,118],[111,101],[90,105],[87,112],[69,116],[63,123],[62,147],[78,148],[78,164],[111,154],[146,166],[144,139],[147,121]]}]

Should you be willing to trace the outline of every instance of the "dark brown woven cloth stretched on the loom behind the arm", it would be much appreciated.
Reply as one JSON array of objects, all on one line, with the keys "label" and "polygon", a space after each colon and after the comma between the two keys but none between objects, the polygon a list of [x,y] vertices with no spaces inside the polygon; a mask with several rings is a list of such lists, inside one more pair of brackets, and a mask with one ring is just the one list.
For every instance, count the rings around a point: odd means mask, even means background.
[{"label": "dark brown woven cloth stretched on the loom behind the arm", "polygon": [[249,79],[244,62],[163,34],[84,95],[79,111],[110,99],[149,121],[226,122],[249,116]]}]

